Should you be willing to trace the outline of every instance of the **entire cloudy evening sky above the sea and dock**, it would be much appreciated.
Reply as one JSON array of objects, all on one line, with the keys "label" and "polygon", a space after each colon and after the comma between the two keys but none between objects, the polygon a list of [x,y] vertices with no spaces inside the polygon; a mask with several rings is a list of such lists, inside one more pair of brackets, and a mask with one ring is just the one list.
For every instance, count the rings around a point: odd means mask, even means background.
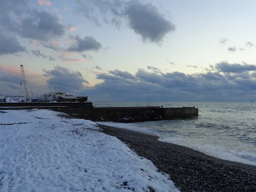
[{"label": "entire cloudy evening sky above the sea and dock", "polygon": [[254,0],[0,0],[0,93],[250,101]]}]

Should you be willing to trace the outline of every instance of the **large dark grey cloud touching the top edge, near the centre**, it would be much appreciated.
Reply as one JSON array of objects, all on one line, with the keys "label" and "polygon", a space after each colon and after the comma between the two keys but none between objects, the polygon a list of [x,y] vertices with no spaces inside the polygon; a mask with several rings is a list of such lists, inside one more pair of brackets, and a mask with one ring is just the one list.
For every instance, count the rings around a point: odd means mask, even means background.
[{"label": "large dark grey cloud touching the top edge, near the centre", "polygon": [[[98,8],[106,23],[119,28],[125,22],[144,42],[159,44],[168,33],[175,31],[175,25],[151,3],[143,4],[137,0],[77,0],[77,3],[78,12],[96,25],[100,26],[94,16],[95,8]],[[112,17],[109,18],[109,15]]]}]

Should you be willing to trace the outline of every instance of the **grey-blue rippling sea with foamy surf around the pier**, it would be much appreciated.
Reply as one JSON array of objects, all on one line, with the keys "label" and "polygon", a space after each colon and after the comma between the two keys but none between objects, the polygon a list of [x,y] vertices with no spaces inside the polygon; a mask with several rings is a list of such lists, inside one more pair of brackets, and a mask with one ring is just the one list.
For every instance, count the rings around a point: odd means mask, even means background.
[{"label": "grey-blue rippling sea with foamy surf around the pier", "polygon": [[193,107],[199,116],[154,122],[97,122],[159,136],[213,157],[256,166],[256,102],[93,102],[94,107]]}]

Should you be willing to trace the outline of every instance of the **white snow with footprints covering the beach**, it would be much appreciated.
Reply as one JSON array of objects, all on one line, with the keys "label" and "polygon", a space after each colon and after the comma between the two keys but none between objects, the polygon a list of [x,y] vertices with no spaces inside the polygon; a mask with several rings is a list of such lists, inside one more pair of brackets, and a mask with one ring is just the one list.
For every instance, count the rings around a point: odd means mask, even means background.
[{"label": "white snow with footprints covering the beach", "polygon": [[84,119],[0,111],[0,192],[179,191],[169,176]]}]

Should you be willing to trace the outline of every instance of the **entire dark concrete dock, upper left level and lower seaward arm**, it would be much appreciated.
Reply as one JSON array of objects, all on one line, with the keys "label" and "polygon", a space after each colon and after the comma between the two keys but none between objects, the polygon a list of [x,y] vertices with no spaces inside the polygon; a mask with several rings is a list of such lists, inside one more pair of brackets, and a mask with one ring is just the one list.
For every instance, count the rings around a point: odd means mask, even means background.
[{"label": "entire dark concrete dock, upper left level and lower seaward arm", "polygon": [[75,118],[93,121],[143,122],[184,119],[198,116],[198,108],[108,107],[94,108],[92,102],[0,102],[0,110],[49,109],[63,112]]}]

